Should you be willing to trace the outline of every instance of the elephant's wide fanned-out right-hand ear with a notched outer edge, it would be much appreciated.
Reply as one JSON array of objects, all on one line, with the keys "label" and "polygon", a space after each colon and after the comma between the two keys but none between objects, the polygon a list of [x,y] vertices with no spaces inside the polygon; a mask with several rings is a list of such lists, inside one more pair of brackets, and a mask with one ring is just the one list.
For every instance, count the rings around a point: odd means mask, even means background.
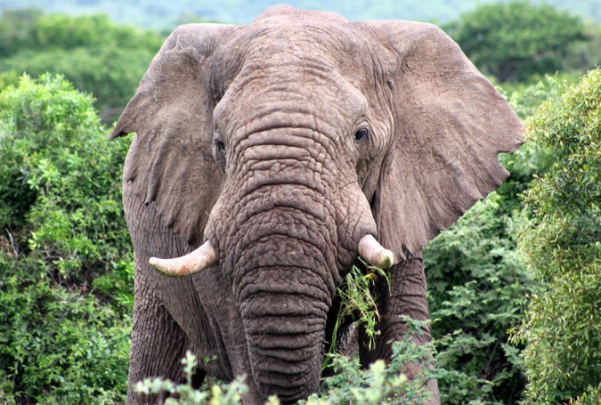
[{"label": "elephant's wide fanned-out right-hand ear with a notched outer edge", "polygon": [[499,187],[508,172],[497,155],[517,149],[523,126],[441,29],[366,24],[389,52],[395,116],[372,207],[380,241],[402,260]]}]

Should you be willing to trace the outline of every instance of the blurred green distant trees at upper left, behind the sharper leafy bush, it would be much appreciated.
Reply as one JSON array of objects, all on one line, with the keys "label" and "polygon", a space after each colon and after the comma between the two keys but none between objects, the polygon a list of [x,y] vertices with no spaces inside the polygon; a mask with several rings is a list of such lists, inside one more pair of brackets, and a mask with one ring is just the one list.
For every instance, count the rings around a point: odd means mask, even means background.
[{"label": "blurred green distant trees at upper left, behind the sharper leafy bush", "polygon": [[120,27],[106,15],[69,17],[4,11],[0,20],[0,84],[24,72],[59,73],[92,93],[104,122],[116,120],[162,44],[157,32]]}]

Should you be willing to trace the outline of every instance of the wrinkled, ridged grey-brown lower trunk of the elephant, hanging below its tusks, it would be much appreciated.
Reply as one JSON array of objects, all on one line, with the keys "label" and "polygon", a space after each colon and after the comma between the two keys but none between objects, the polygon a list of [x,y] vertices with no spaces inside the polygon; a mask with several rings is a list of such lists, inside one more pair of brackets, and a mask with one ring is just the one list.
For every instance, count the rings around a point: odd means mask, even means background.
[{"label": "wrinkled, ridged grey-brown lower trunk of the elephant, hanging below its tusks", "polygon": [[291,403],[318,389],[334,288],[322,250],[289,235],[258,239],[243,250],[234,295],[263,399],[277,394]]}]

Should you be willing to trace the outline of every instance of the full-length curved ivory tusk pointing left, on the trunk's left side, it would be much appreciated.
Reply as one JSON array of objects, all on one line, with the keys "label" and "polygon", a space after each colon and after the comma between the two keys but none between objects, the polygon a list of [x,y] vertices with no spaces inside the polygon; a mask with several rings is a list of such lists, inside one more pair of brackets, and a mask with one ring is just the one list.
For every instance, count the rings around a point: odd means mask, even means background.
[{"label": "full-length curved ivory tusk pointing left, on the trunk's left side", "polygon": [[156,271],[166,276],[182,277],[207,269],[217,260],[215,247],[208,240],[198,249],[173,259],[150,257],[149,263]]}]

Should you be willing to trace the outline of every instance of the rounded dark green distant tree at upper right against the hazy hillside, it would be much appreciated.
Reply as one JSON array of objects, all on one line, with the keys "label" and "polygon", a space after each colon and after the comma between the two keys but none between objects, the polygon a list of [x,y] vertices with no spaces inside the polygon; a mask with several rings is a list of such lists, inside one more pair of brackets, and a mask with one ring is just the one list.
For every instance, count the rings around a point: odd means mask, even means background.
[{"label": "rounded dark green distant tree at upper right against the hazy hillside", "polygon": [[580,17],[547,4],[484,4],[446,30],[475,65],[499,81],[562,69],[574,42],[586,39]]}]

